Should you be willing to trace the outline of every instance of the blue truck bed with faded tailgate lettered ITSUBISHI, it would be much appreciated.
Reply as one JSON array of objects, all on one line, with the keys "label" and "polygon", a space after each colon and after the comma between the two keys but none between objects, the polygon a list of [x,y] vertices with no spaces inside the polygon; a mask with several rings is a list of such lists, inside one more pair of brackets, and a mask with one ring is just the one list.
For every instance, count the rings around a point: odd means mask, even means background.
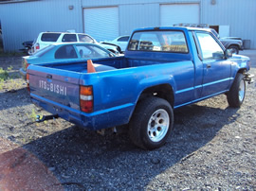
[{"label": "blue truck bed with faded tailgate lettered ITSUBISHI", "polygon": [[[65,120],[87,129],[99,130],[126,124],[139,95],[149,85],[167,81],[172,84],[178,80],[175,91],[181,98],[175,100],[175,104],[192,99],[193,63],[177,61],[175,57],[173,61],[170,62],[170,58],[132,57],[93,60],[94,63],[116,68],[97,73],[87,73],[86,61],[30,65],[27,72],[31,100],[49,113],[58,113]],[[180,73],[180,70],[184,72],[179,78],[170,76]],[[189,83],[187,78],[191,79]],[[90,85],[94,93],[94,111],[82,113],[80,88]],[[116,117],[110,117],[113,115]]]}]

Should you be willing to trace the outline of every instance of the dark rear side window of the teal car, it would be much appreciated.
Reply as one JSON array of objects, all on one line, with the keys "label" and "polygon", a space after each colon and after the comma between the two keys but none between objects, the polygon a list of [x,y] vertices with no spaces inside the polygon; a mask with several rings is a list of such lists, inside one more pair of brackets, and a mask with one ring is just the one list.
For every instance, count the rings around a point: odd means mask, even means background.
[{"label": "dark rear side window of the teal car", "polygon": [[61,46],[55,52],[55,59],[77,59],[77,58],[78,58],[78,55],[73,45]]}]

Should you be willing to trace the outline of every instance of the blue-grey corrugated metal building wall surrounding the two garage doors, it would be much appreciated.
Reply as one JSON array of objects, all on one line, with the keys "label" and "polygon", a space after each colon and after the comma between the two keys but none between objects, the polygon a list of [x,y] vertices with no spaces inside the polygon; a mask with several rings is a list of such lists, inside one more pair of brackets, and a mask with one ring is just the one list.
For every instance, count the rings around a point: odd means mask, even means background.
[{"label": "blue-grey corrugated metal building wall surrounding the two garage doors", "polygon": [[[201,23],[229,26],[230,36],[250,40],[250,47],[256,48],[256,0],[39,0],[0,4],[4,45],[6,51],[17,50],[21,43],[47,30],[83,32],[86,8],[118,7],[119,35],[126,35],[137,27],[160,26],[160,6],[181,3],[199,4]],[[70,5],[74,9],[68,9]]]}]

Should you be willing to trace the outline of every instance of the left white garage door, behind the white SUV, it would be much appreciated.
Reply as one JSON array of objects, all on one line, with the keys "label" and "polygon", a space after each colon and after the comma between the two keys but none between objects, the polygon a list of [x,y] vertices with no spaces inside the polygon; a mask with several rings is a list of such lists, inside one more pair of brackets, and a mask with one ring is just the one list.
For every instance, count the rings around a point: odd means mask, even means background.
[{"label": "left white garage door, behind the white SUV", "polygon": [[119,36],[119,9],[83,9],[84,31],[97,41],[114,40]]}]

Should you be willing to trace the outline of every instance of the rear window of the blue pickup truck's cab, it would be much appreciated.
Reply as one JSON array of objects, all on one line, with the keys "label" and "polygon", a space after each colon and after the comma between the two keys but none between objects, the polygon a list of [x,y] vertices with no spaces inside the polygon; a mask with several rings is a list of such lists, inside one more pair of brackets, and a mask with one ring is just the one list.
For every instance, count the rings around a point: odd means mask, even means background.
[{"label": "rear window of the blue pickup truck's cab", "polygon": [[139,31],[128,45],[128,50],[151,52],[188,53],[188,45],[182,31]]}]

